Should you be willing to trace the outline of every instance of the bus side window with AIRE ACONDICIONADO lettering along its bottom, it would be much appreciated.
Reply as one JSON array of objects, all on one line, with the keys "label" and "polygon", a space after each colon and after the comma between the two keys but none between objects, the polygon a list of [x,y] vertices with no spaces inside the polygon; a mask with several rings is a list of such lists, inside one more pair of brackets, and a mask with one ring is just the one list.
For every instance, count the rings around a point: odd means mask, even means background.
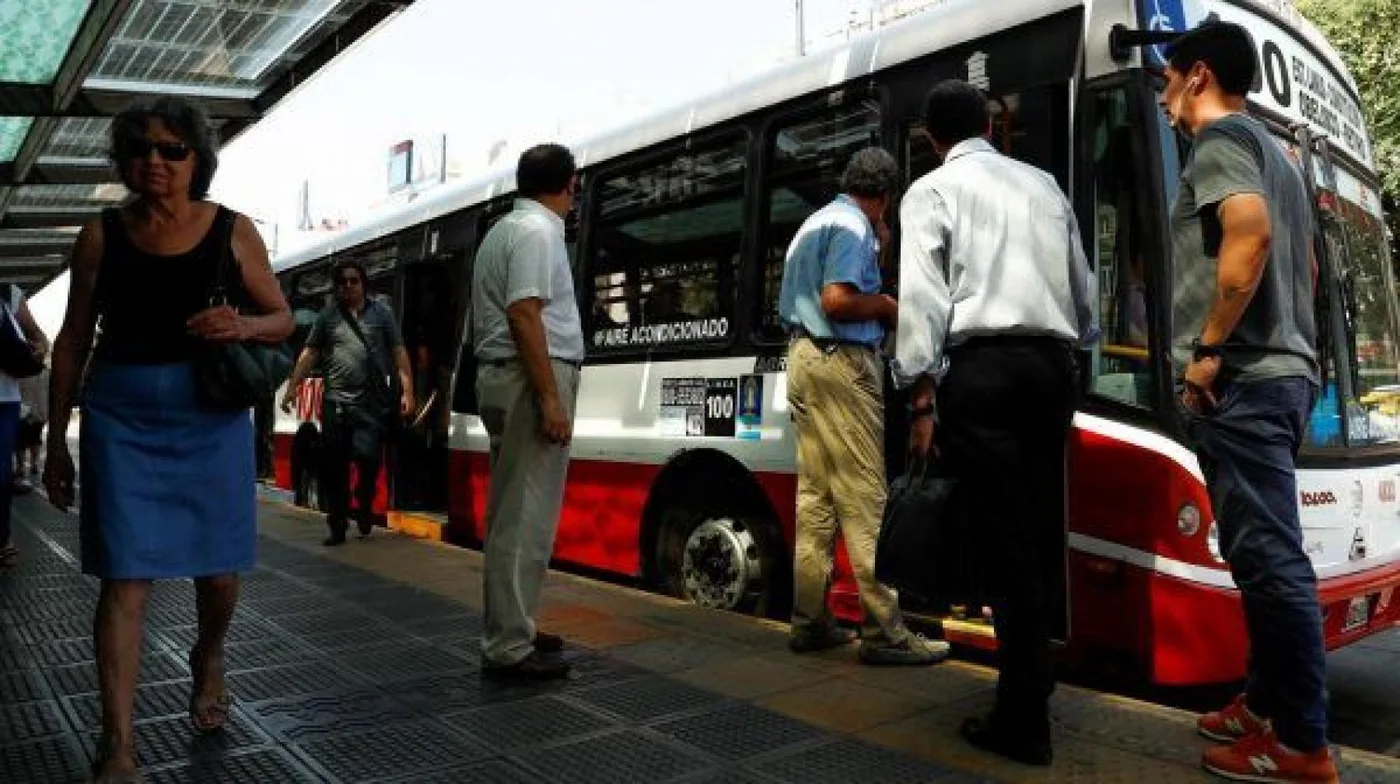
[{"label": "bus side window with AIRE ACONDICIONADO lettering along its bottom", "polygon": [[591,350],[729,336],[746,168],[746,136],[727,133],[661,162],[603,175],[585,272]]}]

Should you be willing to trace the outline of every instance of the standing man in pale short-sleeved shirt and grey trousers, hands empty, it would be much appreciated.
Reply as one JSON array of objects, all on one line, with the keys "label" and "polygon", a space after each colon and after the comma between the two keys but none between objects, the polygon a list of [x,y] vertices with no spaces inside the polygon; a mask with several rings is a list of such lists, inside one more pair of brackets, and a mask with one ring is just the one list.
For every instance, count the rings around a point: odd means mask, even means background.
[{"label": "standing man in pale short-sleeved shirt and grey trousers, hands empty", "polygon": [[564,246],[578,185],[559,144],[526,150],[515,209],[486,234],[472,269],[476,395],[490,434],[486,505],[486,673],[550,679],[563,638],[539,631],[539,589],[554,550],[574,430],[584,330]]}]

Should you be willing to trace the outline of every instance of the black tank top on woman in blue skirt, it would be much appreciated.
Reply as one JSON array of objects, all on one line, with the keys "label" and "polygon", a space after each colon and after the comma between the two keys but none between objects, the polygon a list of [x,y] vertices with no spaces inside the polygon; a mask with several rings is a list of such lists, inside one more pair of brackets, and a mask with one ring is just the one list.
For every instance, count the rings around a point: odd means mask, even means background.
[{"label": "black tank top on woman in blue skirt", "polygon": [[[120,211],[104,210],[102,265],[94,300],[101,315],[97,358],[118,364],[193,360],[200,340],[189,335],[185,322],[209,307],[221,252],[232,253],[231,225],[232,211],[220,206],[199,245],[167,256],[137,248]],[[242,280],[230,287],[230,300],[237,305],[244,300]]]}]

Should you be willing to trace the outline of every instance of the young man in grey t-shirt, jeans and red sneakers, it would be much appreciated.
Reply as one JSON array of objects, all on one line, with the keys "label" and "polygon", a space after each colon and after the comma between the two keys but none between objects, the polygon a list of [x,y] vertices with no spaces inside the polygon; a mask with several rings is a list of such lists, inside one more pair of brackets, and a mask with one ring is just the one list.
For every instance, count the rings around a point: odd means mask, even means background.
[{"label": "young man in grey t-shirt, jeans and red sneakers", "polygon": [[1203,764],[1226,778],[1336,781],[1294,462],[1319,375],[1309,193],[1245,113],[1257,60],[1243,28],[1201,25],[1168,60],[1159,102],[1193,137],[1172,210],[1172,358],[1250,640],[1245,693],[1197,721],[1222,743]]}]

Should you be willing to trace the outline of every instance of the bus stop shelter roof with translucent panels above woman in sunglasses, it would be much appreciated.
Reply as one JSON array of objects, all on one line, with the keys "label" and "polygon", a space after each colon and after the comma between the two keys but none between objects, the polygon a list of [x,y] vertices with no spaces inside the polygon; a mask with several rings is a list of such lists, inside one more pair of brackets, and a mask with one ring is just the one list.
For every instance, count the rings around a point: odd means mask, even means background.
[{"label": "bus stop shelter roof with translucent panels above woman in sunglasses", "polygon": [[413,0],[24,0],[0,4],[0,283],[29,294],[126,197],[112,118],[202,106],[228,144]]}]

